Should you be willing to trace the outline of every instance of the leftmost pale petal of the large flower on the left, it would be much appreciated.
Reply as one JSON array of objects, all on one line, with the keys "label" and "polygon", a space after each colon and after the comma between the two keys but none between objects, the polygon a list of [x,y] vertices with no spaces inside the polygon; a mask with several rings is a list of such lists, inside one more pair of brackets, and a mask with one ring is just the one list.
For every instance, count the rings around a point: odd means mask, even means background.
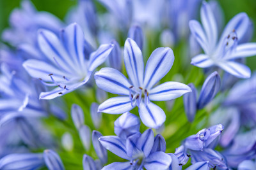
[{"label": "leftmost pale petal of the large flower on the left", "polygon": [[47,62],[29,59],[23,62],[22,66],[26,69],[33,78],[41,78],[44,81],[52,81],[49,74],[54,75],[54,80],[63,81],[63,76],[68,76],[67,73],[60,71],[56,67]]}]

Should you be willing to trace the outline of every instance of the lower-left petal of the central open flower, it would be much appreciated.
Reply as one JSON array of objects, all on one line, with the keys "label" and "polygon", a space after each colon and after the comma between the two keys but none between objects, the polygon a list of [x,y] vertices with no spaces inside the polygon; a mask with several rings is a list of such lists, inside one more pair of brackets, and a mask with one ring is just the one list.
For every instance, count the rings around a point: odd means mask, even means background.
[{"label": "lower-left petal of the central open flower", "polygon": [[98,111],[110,114],[120,114],[132,110],[135,106],[135,103],[131,104],[131,100],[128,96],[112,97],[100,104]]}]

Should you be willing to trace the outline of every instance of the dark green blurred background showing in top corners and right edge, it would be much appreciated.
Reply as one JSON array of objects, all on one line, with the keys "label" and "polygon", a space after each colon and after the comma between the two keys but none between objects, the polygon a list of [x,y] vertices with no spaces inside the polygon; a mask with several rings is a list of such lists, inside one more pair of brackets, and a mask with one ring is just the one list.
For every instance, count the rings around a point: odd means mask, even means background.
[{"label": "dark green blurred background showing in top corners and right edge", "polygon": [[[4,28],[8,27],[8,17],[14,8],[20,6],[21,0],[0,0],[0,34]],[[77,4],[76,0],[31,0],[39,11],[49,11],[57,17],[65,17],[68,9]],[[156,0],[157,1],[157,0]],[[256,24],[256,1],[255,0],[219,0],[225,14],[227,23],[239,12],[246,12]],[[252,41],[256,41],[256,29]],[[252,71],[256,69],[256,58],[250,57],[246,63]]]}]

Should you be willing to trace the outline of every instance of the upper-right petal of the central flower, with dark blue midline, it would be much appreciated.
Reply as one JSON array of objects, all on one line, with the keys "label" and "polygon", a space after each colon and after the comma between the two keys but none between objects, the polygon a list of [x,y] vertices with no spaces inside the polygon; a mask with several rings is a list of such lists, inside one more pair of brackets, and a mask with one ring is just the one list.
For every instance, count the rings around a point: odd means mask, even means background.
[{"label": "upper-right petal of the central flower, with dark blue midline", "polygon": [[144,78],[145,89],[151,89],[161,78],[163,78],[172,68],[174,55],[171,48],[156,48],[150,55]]}]

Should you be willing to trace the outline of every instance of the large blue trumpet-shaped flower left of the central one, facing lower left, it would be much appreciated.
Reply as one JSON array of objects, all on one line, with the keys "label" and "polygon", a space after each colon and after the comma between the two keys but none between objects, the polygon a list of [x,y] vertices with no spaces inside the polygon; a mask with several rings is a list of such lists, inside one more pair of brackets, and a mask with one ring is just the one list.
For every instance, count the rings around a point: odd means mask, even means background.
[{"label": "large blue trumpet-shaped flower left of the central one, facing lower left", "polygon": [[93,70],[102,64],[113,45],[100,45],[91,53],[90,59],[84,57],[84,35],[77,24],[68,25],[60,32],[60,38],[51,31],[38,32],[38,44],[47,57],[47,62],[29,59],[23,66],[34,77],[47,86],[56,87],[49,92],[42,92],[40,99],[54,99],[84,85]]}]

